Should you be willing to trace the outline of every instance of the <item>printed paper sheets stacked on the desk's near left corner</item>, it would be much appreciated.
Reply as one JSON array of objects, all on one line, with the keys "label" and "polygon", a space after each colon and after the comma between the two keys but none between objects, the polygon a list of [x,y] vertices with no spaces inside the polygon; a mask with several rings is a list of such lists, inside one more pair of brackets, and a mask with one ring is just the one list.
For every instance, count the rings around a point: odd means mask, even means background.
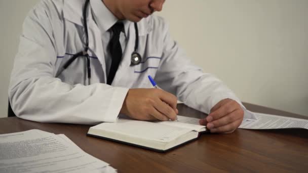
[{"label": "printed paper sheets stacked on the desk's near left corner", "polygon": [[0,135],[0,172],[117,172],[65,135],[32,129]]}]

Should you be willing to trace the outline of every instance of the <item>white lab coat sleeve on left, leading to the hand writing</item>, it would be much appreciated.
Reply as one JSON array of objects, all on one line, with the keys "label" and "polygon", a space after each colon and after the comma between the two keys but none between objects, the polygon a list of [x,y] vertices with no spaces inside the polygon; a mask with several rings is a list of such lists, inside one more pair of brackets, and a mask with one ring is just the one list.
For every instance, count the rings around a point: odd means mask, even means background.
[{"label": "white lab coat sleeve on left, leading to the hand writing", "polygon": [[[117,119],[128,89],[103,83],[69,85],[53,77],[56,48],[52,8],[38,4],[26,17],[9,86],[14,113],[40,122],[96,124]],[[56,12],[53,12],[55,14]],[[62,43],[63,44],[63,43]]]}]

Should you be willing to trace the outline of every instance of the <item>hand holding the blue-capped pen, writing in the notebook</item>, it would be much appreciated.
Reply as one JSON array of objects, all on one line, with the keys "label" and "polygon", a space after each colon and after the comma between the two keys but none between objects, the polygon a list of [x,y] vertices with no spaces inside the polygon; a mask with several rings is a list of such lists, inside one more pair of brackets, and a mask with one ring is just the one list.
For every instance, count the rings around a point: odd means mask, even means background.
[{"label": "hand holding the blue-capped pen, writing in the notebook", "polygon": [[120,113],[138,120],[176,120],[176,104],[177,98],[164,90],[130,89]]}]

